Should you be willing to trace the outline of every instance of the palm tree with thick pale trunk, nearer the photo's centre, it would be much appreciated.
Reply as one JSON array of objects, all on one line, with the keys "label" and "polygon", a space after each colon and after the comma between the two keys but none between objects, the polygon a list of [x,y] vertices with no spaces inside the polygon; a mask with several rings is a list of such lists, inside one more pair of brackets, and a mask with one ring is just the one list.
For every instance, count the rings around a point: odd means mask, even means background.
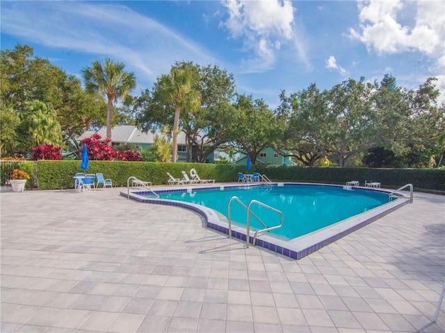
[{"label": "palm tree with thick pale trunk, nearer the photo's centre", "polygon": [[201,105],[201,96],[195,89],[196,72],[193,67],[183,63],[170,70],[170,75],[163,75],[156,85],[155,99],[175,105],[173,120],[172,162],[176,162],[178,153],[179,116],[184,107],[197,110]]}]

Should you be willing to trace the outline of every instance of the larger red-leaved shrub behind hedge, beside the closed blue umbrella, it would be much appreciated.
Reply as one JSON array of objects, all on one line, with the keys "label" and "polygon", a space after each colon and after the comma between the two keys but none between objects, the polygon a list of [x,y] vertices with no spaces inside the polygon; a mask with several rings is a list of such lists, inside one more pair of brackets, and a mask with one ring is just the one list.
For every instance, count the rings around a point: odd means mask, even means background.
[{"label": "larger red-leaved shrub behind hedge, beside the closed blue umbrella", "polygon": [[113,147],[108,146],[110,139],[105,139],[105,142],[102,142],[101,139],[102,137],[95,133],[81,140],[82,144],[86,144],[90,160],[142,161],[138,151],[115,151]]}]

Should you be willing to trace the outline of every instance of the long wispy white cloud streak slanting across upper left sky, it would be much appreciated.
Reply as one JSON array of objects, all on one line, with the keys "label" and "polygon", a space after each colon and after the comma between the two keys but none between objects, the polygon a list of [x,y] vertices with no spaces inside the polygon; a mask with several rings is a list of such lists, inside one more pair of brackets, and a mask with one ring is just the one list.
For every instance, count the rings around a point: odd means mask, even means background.
[{"label": "long wispy white cloud streak slanting across upper left sky", "polygon": [[122,61],[138,80],[154,81],[175,61],[216,62],[179,33],[114,3],[18,1],[2,3],[1,11],[2,33]]}]

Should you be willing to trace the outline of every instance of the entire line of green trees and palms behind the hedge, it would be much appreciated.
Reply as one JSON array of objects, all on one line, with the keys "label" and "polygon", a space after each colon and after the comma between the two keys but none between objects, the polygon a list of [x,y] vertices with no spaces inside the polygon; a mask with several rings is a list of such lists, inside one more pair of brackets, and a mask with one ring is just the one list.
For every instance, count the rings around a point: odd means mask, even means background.
[{"label": "entire line of green trees and palms behind the hedge", "polygon": [[[283,90],[280,105],[270,110],[264,100],[236,92],[233,74],[217,65],[176,62],[136,96],[130,96],[134,74],[108,58],[83,67],[84,87],[27,45],[0,51],[0,67],[1,155],[26,156],[35,146],[76,142],[83,131],[106,123],[108,144],[115,124],[147,132],[165,128],[168,135],[155,144],[159,151],[149,152],[157,160],[165,160],[171,146],[176,161],[183,132],[187,160],[196,162],[222,147],[255,162],[267,146],[308,166],[323,157],[339,167],[444,161],[445,105],[438,103],[436,78],[416,89],[398,86],[391,74],[380,82],[348,78],[323,91],[313,83],[290,94]],[[124,103],[116,106],[118,100]]]}]

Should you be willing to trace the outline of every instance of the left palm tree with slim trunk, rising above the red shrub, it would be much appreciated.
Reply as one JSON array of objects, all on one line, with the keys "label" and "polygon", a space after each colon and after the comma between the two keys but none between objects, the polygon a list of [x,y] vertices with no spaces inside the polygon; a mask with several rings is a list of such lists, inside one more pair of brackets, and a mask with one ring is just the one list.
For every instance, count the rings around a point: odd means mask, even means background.
[{"label": "left palm tree with slim trunk, rising above the red shrub", "polygon": [[136,77],[132,71],[124,71],[122,62],[113,62],[106,58],[105,64],[94,60],[91,67],[82,69],[87,92],[99,92],[108,98],[106,110],[106,138],[111,145],[111,123],[113,120],[113,102],[125,99],[136,87]]}]

